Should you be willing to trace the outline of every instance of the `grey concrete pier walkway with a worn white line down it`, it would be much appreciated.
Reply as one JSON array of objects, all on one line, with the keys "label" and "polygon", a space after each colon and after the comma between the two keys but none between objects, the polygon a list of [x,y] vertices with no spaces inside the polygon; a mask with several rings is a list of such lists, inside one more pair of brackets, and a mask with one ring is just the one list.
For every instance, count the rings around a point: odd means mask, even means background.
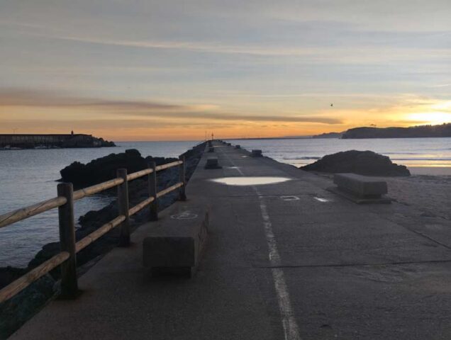
[{"label": "grey concrete pier walkway with a worn white line down it", "polygon": [[[405,205],[355,205],[329,179],[215,146],[188,198],[211,203],[191,280],[150,278],[141,242],[114,249],[11,339],[451,339],[451,223]],[[230,186],[210,179],[289,179]],[[162,218],[167,218],[165,212]]]}]

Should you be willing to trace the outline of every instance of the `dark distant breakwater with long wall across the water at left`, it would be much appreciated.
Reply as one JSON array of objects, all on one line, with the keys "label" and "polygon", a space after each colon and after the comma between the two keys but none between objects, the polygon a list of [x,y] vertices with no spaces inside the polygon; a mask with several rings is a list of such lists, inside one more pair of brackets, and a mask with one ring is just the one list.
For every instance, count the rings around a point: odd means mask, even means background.
[{"label": "dark distant breakwater with long wall across the water at left", "polygon": [[0,149],[58,149],[75,147],[116,147],[103,138],[81,133],[57,135],[0,134]]}]

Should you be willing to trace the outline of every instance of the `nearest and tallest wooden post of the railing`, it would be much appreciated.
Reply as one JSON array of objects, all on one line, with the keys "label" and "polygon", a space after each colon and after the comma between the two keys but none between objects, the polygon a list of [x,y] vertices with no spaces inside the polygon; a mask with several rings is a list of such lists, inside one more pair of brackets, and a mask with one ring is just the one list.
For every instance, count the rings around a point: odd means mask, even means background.
[{"label": "nearest and tallest wooden post of the railing", "polygon": [[61,263],[61,297],[73,299],[78,295],[77,283],[77,253],[75,252],[75,224],[74,224],[74,188],[72,183],[57,185],[58,196],[66,198],[67,202],[58,207],[60,222],[61,251],[69,253],[69,259]]}]

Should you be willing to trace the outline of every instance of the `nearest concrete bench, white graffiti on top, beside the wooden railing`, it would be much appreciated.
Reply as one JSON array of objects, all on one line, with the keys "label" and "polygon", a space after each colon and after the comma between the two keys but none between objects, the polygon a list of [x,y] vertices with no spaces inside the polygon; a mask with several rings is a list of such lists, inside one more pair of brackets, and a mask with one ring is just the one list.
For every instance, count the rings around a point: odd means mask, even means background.
[{"label": "nearest concrete bench, white graffiti on top, beside the wooden railing", "polygon": [[176,202],[168,210],[143,240],[143,264],[152,276],[191,277],[206,244],[208,207],[199,199]]}]

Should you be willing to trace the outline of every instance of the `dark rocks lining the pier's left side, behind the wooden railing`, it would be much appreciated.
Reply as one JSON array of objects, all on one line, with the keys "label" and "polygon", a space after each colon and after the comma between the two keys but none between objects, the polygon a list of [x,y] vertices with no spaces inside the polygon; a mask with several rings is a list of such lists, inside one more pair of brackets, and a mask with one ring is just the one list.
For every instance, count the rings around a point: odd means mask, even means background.
[{"label": "dark rocks lining the pier's left side, behind the wooden railing", "polygon": [[[205,143],[193,147],[183,155],[186,159],[186,181],[189,181],[191,175],[196,169],[197,164],[205,149]],[[62,181],[74,183],[75,188],[83,188],[96,183],[108,181],[116,177],[116,169],[126,168],[128,173],[140,171],[147,168],[149,162],[155,162],[157,165],[174,162],[175,158],[165,157],[143,157],[138,150],[129,149],[120,154],[109,154],[106,157],[94,159],[88,164],[74,162],[60,171]],[[179,181],[179,170],[177,166],[159,171],[157,173],[158,191],[161,191]],[[130,207],[140,203],[148,197],[146,176],[142,179],[136,179],[128,183],[128,193]],[[116,189],[110,189],[106,194],[116,195]],[[158,199],[159,210],[167,208],[177,200],[177,191],[169,193]],[[102,208],[101,210],[92,210],[79,217],[76,239],[91,234],[104,223],[112,220],[118,215],[116,201]],[[132,231],[143,222],[148,220],[148,210],[143,209],[130,217],[130,227]],[[93,244],[77,254],[77,265],[79,273],[87,271],[87,268],[99,259],[106,252],[113,249],[118,244],[119,230],[112,229]],[[59,242],[45,244],[43,249],[35,255],[34,259],[28,263],[27,268],[0,268],[0,288],[8,285],[16,278],[30,271],[44,261],[60,251]],[[6,339],[16,329],[26,322],[27,319],[38,312],[45,303],[57,295],[60,279],[60,270],[56,268],[48,275],[30,285],[21,293],[10,300],[0,304],[0,339]]]}]

